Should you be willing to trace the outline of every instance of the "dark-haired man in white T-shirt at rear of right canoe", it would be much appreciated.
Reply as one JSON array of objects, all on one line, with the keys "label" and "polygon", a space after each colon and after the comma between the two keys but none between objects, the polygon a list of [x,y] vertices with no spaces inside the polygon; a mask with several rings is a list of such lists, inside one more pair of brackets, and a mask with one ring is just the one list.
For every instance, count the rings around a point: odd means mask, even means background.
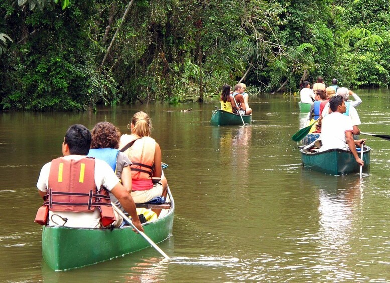
[{"label": "dark-haired man in white T-shirt at rear of right canoe", "polygon": [[333,148],[350,150],[356,162],[364,166],[356,152],[356,145],[361,147],[365,139],[353,140],[352,121],[349,116],[343,115],[346,111],[345,101],[341,96],[334,96],[329,101],[332,113],[322,119],[320,152]]}]

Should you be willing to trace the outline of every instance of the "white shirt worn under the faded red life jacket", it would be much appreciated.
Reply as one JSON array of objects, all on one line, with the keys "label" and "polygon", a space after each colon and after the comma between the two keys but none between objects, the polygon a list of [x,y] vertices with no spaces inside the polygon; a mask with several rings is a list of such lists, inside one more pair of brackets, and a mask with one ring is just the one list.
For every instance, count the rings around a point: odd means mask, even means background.
[{"label": "white shirt worn under the faded red life jacket", "polygon": [[[84,155],[64,156],[65,159],[74,160],[80,160],[84,157]],[[46,163],[41,169],[37,182],[37,188],[40,191],[46,192],[49,183],[50,166],[51,162]],[[118,183],[119,179],[112,168],[103,160],[95,159],[95,184],[97,190],[100,191],[100,187],[104,186],[108,191],[111,191]],[[68,219],[65,224],[61,217]],[[94,212],[49,211],[49,225],[73,228],[99,228],[100,211],[97,208]]]}]

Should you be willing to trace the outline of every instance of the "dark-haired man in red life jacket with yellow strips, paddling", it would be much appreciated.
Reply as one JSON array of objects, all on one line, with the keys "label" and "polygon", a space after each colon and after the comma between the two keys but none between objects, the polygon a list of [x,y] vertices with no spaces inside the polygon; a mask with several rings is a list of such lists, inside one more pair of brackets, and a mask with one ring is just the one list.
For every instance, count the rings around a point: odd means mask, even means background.
[{"label": "dark-haired man in red life jacket with yellow strips, paddling", "polygon": [[[120,184],[112,168],[104,161],[86,158],[91,133],[83,125],[67,130],[62,143],[63,157],[45,164],[38,178],[42,208],[48,219],[36,222],[73,228],[101,228],[113,223],[114,215],[108,192],[111,192],[132,217],[133,224],[143,231],[136,206],[129,192]],[[120,216],[119,216],[120,217]],[[40,217],[42,218],[42,217]]]}]

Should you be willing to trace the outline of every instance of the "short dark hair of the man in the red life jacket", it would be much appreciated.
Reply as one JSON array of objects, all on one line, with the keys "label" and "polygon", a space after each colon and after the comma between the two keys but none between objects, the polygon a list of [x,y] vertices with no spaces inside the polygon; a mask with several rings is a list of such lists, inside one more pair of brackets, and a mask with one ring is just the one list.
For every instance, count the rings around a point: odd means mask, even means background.
[{"label": "short dark hair of the man in the red life jacket", "polygon": [[64,142],[69,146],[70,154],[87,155],[91,146],[91,132],[83,125],[69,127]]}]

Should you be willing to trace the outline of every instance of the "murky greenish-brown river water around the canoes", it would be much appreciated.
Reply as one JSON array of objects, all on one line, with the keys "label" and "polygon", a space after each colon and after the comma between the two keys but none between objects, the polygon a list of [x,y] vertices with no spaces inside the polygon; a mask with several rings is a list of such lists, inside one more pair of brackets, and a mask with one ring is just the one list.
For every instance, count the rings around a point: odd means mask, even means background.
[{"label": "murky greenish-brown river water around the canoes", "polygon": [[[369,133],[390,133],[390,93],[359,91]],[[301,167],[290,137],[302,125],[298,98],[250,97],[252,125],[215,127],[218,101],[99,108],[97,113],[0,113],[0,281],[389,281],[390,141],[367,137],[371,166],[331,176]],[[183,109],[192,108],[189,112]],[[61,155],[69,125],[110,121],[125,133],[150,114],[176,210],[172,236],[97,265],[54,272],[42,260],[42,165]]]}]

